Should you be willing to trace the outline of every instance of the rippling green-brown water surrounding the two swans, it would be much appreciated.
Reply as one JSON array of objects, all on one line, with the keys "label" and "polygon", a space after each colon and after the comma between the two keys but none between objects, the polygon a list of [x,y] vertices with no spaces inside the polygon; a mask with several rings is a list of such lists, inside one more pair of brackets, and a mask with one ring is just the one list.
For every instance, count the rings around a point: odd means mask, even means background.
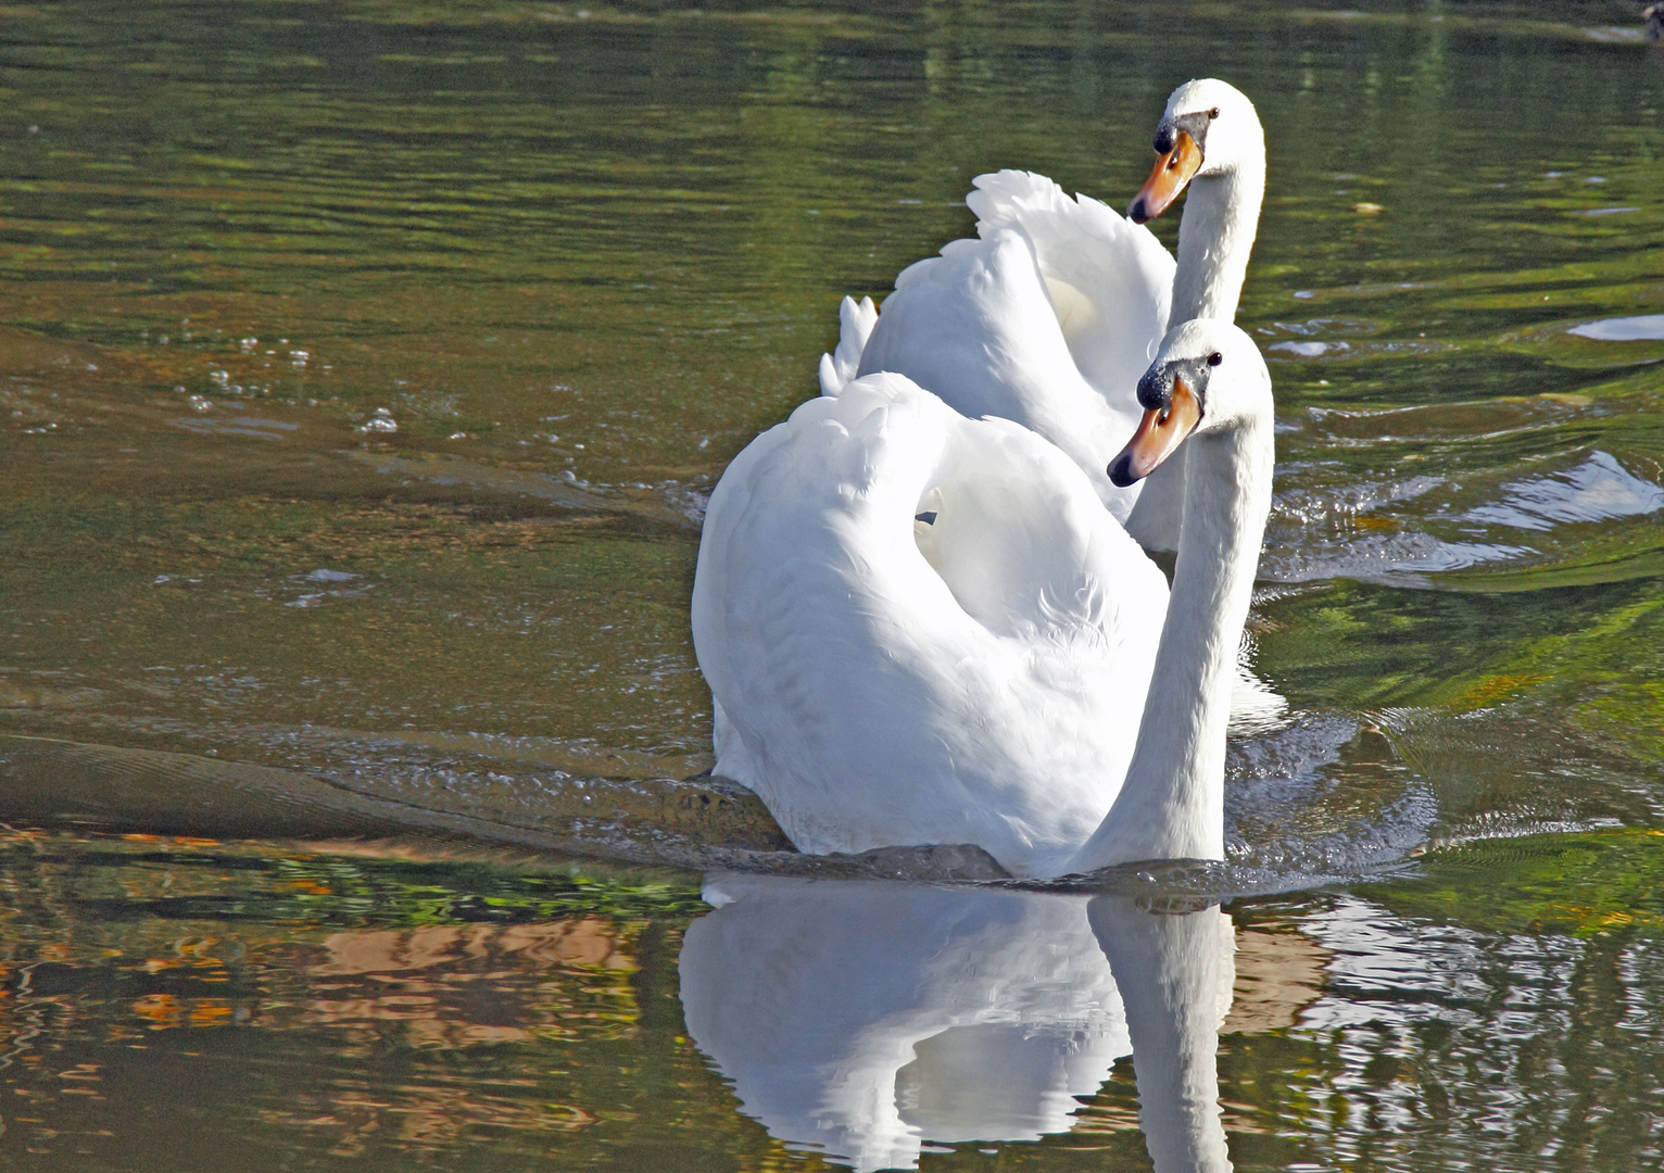
[{"label": "rippling green-brown water surrounding the two swans", "polygon": [[[1183,1118],[1236,1168],[1661,1163],[1664,60],[1627,8],[7,17],[8,1163],[812,1168],[905,1135],[885,1160],[1148,1168],[1113,972],[1145,930],[1088,910],[1181,935],[1216,895],[1235,952],[1175,973],[1233,992],[1185,1035],[1223,1116]],[[704,494],[814,391],[842,294],[968,231],[972,175],[1122,205],[1210,73],[1271,155],[1238,321],[1280,429],[1251,662],[1288,702],[1233,742],[1231,867],[1115,897],[792,855],[696,777]],[[694,870],[631,870],[662,865]],[[990,962],[962,1013],[919,933],[804,875],[925,908],[942,957],[1085,968]],[[802,1027],[809,1098],[764,1110],[677,957],[795,957],[792,915],[912,1018],[726,982]],[[805,1138],[809,1060],[880,1037],[894,1118]]]}]

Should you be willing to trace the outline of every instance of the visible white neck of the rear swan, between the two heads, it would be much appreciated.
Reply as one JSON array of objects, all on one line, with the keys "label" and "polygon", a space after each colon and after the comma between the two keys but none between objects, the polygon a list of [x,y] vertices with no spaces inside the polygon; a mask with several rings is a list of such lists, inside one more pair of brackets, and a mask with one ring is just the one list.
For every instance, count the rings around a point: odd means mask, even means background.
[{"label": "visible white neck of the rear swan, between the two heads", "polygon": [[1178,221],[1170,326],[1191,318],[1231,321],[1236,316],[1263,200],[1263,145],[1223,175],[1191,180]]}]

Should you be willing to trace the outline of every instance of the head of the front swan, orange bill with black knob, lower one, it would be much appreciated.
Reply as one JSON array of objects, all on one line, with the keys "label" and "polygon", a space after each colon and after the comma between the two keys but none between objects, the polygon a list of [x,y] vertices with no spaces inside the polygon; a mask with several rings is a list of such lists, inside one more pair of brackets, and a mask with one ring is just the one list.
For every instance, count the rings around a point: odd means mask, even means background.
[{"label": "head of the front swan, orange bill with black knob, lower one", "polygon": [[1271,416],[1271,373],[1253,339],[1228,321],[1173,326],[1138,379],[1138,431],[1108,474],[1127,488],[1155,473],[1186,436],[1228,431]]}]

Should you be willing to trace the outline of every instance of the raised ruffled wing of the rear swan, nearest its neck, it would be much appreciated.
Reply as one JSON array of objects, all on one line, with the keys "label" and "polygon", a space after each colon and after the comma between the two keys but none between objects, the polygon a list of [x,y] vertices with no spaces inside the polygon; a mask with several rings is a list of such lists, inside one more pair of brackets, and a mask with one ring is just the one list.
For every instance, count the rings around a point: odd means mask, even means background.
[{"label": "raised ruffled wing of the rear swan, nearest its neck", "polygon": [[1092,196],[1070,200],[1043,175],[1007,170],[972,183],[965,203],[978,235],[1018,228],[1033,243],[1080,373],[1112,401],[1130,398],[1166,333],[1173,256],[1143,225]]}]

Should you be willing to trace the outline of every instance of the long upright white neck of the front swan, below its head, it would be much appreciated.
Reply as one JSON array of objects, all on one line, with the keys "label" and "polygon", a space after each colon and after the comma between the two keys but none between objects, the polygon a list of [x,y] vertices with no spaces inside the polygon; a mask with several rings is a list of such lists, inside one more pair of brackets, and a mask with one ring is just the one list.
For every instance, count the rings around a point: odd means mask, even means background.
[{"label": "long upright white neck of the front swan, below its head", "polygon": [[1072,872],[1225,859],[1225,725],[1271,509],[1271,419],[1191,436],[1185,448],[1178,561],[1138,744]]}]

